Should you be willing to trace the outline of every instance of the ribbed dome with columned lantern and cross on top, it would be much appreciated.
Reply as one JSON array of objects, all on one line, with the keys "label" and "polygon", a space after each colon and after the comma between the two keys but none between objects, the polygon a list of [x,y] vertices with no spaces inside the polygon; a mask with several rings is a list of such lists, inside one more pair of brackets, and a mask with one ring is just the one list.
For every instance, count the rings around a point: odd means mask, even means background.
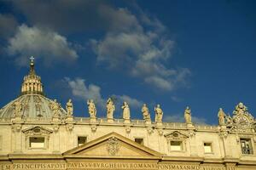
[{"label": "ribbed dome with columned lantern and cross on top", "polygon": [[24,77],[21,84],[20,97],[3,106],[0,110],[0,118],[9,119],[20,116],[22,119],[51,119],[53,116],[61,118],[67,115],[67,112],[56,100],[44,96],[41,77],[36,75],[33,59],[32,57],[29,74]]}]

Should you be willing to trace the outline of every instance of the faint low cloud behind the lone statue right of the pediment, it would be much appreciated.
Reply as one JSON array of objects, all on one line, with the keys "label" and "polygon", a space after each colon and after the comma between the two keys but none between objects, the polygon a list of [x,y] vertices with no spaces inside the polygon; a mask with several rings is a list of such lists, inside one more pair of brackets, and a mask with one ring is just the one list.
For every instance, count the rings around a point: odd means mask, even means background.
[{"label": "faint low cloud behind the lone statue right of the pediment", "polygon": [[[168,114],[164,116],[165,122],[184,122],[183,114]],[[192,116],[192,122],[196,124],[207,124],[207,120],[203,117]]]}]

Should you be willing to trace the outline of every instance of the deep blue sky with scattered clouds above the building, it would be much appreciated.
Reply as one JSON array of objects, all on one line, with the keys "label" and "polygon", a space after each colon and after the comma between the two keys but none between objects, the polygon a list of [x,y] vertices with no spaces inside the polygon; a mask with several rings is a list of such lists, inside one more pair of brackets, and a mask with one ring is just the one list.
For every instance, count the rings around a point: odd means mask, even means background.
[{"label": "deep blue sky with scattered clouds above the building", "polygon": [[44,92],[75,116],[98,116],[115,96],[116,118],[128,101],[141,119],[216,124],[218,108],[239,102],[256,111],[255,1],[0,1],[0,106],[20,94],[29,57],[36,58]]}]

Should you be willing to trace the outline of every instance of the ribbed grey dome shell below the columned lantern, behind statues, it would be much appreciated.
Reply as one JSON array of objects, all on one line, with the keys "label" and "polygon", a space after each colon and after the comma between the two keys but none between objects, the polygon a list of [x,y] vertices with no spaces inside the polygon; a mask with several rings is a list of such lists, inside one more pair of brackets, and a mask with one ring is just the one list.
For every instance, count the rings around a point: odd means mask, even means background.
[{"label": "ribbed grey dome shell below the columned lantern, behind statues", "polygon": [[[21,104],[21,116],[26,118],[38,118],[44,119],[52,118],[54,111],[51,109],[51,105],[54,100],[48,99],[40,94],[23,94],[19,98],[9,102],[9,104],[3,106],[0,110],[0,118],[12,118],[15,117],[15,102]],[[61,117],[66,116],[66,111],[60,107]]]}]

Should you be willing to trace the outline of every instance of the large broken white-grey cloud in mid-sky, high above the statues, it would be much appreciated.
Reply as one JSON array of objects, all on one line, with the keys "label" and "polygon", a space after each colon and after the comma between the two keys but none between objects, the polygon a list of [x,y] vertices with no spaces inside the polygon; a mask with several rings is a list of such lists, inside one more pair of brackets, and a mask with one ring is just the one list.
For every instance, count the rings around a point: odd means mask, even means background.
[{"label": "large broken white-grey cloud in mid-sky, high above the statues", "polygon": [[120,12],[119,18],[130,19],[125,29],[110,29],[101,40],[91,40],[97,61],[111,69],[128,71],[131,77],[143,78],[145,83],[162,90],[172,91],[185,84],[189,69],[166,66],[175,42],[166,38],[166,27],[160,20],[112,8],[112,13]]}]

